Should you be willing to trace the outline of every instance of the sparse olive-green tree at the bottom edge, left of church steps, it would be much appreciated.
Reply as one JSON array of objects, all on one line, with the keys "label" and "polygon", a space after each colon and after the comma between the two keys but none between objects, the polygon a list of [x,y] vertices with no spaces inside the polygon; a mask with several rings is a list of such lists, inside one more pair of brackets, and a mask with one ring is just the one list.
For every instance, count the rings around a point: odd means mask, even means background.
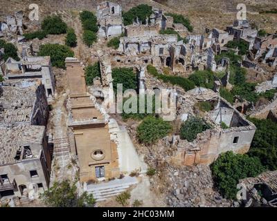
[{"label": "sparse olive-green tree at the bottom edge, left of church steps", "polygon": [[96,202],[92,194],[87,192],[78,195],[75,183],[69,180],[54,182],[53,186],[42,193],[41,198],[47,206],[51,207],[86,207],[93,206]]}]

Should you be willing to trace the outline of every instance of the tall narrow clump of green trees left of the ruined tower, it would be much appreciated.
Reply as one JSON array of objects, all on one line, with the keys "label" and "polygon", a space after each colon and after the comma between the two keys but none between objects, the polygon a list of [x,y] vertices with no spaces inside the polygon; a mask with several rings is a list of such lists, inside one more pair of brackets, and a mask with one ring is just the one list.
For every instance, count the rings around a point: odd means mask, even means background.
[{"label": "tall narrow clump of green trees left of the ruined tower", "polygon": [[91,46],[97,40],[96,32],[98,31],[97,18],[93,12],[84,10],[80,13],[80,20],[82,22],[83,41],[87,46]]}]

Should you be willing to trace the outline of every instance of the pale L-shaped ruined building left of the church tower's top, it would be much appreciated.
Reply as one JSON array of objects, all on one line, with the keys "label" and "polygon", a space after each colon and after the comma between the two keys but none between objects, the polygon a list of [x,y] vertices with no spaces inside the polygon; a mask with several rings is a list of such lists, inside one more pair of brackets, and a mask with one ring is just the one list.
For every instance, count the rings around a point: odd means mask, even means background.
[{"label": "pale L-shaped ruined building left of the church tower's top", "polygon": [[9,58],[6,61],[4,78],[6,80],[39,79],[44,84],[48,102],[55,97],[55,78],[51,59],[46,57],[24,57],[21,61]]}]

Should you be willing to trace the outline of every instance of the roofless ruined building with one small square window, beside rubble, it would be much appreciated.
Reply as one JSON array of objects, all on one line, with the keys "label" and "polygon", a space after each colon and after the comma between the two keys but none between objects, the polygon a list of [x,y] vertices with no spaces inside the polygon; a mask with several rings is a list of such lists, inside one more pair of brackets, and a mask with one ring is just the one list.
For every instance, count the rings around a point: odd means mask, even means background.
[{"label": "roofless ruined building with one small square window, beside rubble", "polygon": [[[210,102],[213,110],[206,113],[196,111],[197,103],[203,101]],[[211,125],[211,129],[199,133],[193,142],[181,140],[179,136],[173,137],[172,146],[177,148],[173,158],[177,164],[211,164],[220,153],[249,151],[256,126],[213,90],[189,90],[184,96],[179,97],[177,113],[180,119],[187,119],[193,115],[203,116]],[[222,123],[227,128],[222,128]]]}]

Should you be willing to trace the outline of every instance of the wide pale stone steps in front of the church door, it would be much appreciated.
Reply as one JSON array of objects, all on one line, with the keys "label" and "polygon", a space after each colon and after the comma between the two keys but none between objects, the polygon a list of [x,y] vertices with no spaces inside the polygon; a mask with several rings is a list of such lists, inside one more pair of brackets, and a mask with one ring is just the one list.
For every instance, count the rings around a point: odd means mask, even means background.
[{"label": "wide pale stone steps in front of the church door", "polygon": [[111,180],[100,184],[84,185],[84,191],[92,193],[96,202],[99,202],[127,191],[134,184],[138,184],[136,177],[123,177],[122,179]]}]

